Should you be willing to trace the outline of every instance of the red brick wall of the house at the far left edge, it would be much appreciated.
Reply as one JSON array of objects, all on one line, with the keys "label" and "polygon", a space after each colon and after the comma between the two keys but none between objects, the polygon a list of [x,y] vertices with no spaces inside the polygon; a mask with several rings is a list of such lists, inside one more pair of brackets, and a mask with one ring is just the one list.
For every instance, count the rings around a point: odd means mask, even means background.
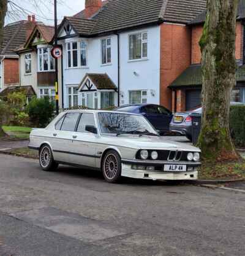
[{"label": "red brick wall of the house at the far left edge", "polygon": [[19,60],[13,58],[4,59],[4,84],[18,84],[20,82],[19,76]]}]

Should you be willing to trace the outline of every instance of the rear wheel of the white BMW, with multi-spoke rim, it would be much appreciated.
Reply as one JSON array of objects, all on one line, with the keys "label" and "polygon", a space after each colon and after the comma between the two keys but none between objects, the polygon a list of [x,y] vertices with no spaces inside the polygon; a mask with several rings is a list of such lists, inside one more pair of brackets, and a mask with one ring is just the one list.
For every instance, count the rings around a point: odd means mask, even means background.
[{"label": "rear wheel of the white BMW, with multi-spoke rim", "polygon": [[55,171],[59,164],[53,159],[53,153],[49,145],[43,145],[39,152],[39,164],[43,171]]}]

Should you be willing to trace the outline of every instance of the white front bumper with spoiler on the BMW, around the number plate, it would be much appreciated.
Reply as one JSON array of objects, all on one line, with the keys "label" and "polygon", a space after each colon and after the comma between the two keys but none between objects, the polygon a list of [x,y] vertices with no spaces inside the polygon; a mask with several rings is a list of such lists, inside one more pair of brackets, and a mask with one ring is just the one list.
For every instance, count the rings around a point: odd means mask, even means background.
[{"label": "white front bumper with spoiler on the BMW, around the number plate", "polygon": [[[157,163],[156,163],[157,162]],[[164,165],[186,165],[187,171],[183,173],[165,172],[165,171],[149,171],[146,169],[132,169],[132,165],[146,165],[154,166],[159,169],[159,166]],[[198,179],[198,166],[201,163],[192,162],[175,162],[168,161],[138,161],[138,160],[123,160],[122,173],[124,177],[130,177],[135,179],[148,179],[148,180],[197,180]],[[192,168],[192,171],[189,171]]]}]

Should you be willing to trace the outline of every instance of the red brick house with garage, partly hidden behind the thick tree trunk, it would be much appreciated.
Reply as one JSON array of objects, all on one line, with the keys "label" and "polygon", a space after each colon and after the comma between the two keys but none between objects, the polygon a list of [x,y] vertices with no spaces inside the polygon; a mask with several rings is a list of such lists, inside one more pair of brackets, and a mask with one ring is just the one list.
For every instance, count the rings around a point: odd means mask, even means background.
[{"label": "red brick house with garage, partly hidden behind the thick tree trunk", "polygon": [[[236,87],[232,93],[232,101],[245,103],[245,66],[244,66],[244,0],[239,2],[238,17],[236,22]],[[187,29],[190,33],[190,62],[180,76],[171,83],[172,107],[175,111],[186,111],[201,106],[202,69],[199,41],[202,36],[206,11],[190,21]]]}]

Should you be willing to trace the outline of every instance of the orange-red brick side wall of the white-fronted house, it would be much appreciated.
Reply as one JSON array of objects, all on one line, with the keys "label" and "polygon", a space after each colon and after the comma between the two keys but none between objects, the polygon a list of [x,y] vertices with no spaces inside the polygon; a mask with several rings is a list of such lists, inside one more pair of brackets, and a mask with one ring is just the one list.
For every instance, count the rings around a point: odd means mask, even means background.
[{"label": "orange-red brick side wall of the white-fronted house", "polygon": [[190,28],[164,23],[160,28],[160,40],[160,104],[174,110],[168,86],[190,65]]}]

